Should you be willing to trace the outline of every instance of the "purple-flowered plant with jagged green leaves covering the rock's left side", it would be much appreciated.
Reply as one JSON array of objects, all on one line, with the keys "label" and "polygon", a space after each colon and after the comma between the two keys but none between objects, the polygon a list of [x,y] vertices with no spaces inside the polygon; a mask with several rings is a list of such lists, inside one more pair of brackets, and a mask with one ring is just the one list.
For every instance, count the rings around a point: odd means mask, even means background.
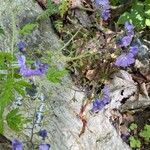
[{"label": "purple-flowered plant with jagged green leaves covering the rock's left side", "polygon": [[[23,40],[17,40],[17,33],[21,36],[27,36],[37,28],[38,25],[37,23],[29,23],[17,31],[15,19],[14,14],[12,14],[12,47],[8,52],[0,51],[0,134],[4,134],[5,129],[7,129],[5,124],[7,124],[11,130],[20,134],[25,126],[31,123],[31,119],[25,118],[20,108],[14,108],[13,105],[14,100],[16,100],[16,95],[23,99],[28,98],[29,95],[27,92],[29,90],[27,89],[32,88],[31,80],[34,76],[45,75],[51,82],[60,83],[61,78],[66,74],[65,71],[62,73],[62,70],[60,71],[57,66],[54,67],[54,65],[51,65],[51,71],[49,71],[50,67],[47,62],[51,62],[50,55],[46,54],[47,57],[44,59],[44,62],[40,59],[31,60],[33,57],[30,57],[26,49],[28,44]],[[41,101],[44,100],[42,99]],[[42,102],[42,104],[43,103],[44,102]],[[8,107],[10,108],[8,109]],[[33,119],[37,119],[37,116],[38,114],[36,113]],[[34,121],[34,123],[37,122]],[[33,134],[31,134],[31,137]],[[38,148],[40,150],[49,150],[50,145],[44,142],[47,137],[47,131],[40,130],[38,135],[41,136],[43,140],[41,144],[38,145]],[[29,143],[31,144],[30,148],[35,147],[34,144],[32,144],[32,138]],[[22,150],[24,146],[25,144],[20,142],[20,139],[15,139],[14,137],[12,149]]]}]

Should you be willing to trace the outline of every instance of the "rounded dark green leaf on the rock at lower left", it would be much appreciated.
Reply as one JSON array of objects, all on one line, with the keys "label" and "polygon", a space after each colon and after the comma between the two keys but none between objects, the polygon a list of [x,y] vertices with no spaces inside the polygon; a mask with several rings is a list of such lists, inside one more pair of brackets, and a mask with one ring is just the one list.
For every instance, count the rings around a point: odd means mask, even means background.
[{"label": "rounded dark green leaf on the rock at lower left", "polygon": [[25,118],[19,114],[19,108],[13,109],[6,116],[8,126],[16,132],[19,132],[23,129],[23,124],[25,123],[24,120]]}]

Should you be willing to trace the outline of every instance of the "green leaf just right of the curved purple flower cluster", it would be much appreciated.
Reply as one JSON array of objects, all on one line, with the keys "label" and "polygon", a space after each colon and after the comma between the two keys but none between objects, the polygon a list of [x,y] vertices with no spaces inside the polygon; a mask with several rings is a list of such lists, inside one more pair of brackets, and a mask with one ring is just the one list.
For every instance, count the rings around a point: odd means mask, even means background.
[{"label": "green leaf just right of the curved purple flower cluster", "polygon": [[48,80],[50,80],[53,83],[59,83],[61,81],[61,78],[64,77],[64,75],[67,73],[67,71],[64,70],[58,70],[57,68],[50,68],[46,74]]}]

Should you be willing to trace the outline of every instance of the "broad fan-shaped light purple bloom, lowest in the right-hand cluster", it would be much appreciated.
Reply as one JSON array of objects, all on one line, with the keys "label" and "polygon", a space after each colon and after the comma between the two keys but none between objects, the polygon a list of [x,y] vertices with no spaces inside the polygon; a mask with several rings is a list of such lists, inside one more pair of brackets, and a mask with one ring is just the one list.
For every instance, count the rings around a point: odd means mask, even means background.
[{"label": "broad fan-shaped light purple bloom, lowest in the right-hand cluster", "polygon": [[116,66],[127,67],[135,62],[134,55],[132,53],[123,53],[121,54],[116,62]]}]

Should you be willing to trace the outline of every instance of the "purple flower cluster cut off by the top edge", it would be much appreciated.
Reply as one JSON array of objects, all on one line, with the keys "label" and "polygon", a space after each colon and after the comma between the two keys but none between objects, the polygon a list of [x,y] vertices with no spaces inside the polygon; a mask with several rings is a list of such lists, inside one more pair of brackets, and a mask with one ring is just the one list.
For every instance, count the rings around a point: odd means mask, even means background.
[{"label": "purple flower cluster cut off by the top edge", "polygon": [[95,0],[95,3],[101,7],[101,17],[106,21],[109,18],[110,12],[109,0]]}]

